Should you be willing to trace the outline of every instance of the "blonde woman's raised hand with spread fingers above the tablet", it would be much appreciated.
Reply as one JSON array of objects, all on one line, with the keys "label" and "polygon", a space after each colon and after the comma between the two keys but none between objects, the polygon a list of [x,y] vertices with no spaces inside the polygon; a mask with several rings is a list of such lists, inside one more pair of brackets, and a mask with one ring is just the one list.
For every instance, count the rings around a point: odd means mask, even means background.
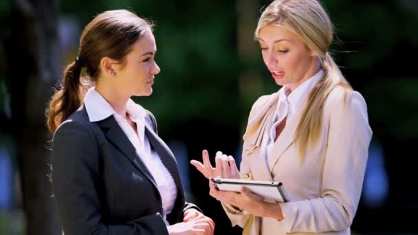
[{"label": "blonde woman's raised hand with spread fingers above the tablet", "polygon": [[228,179],[241,179],[238,168],[236,168],[235,159],[232,156],[224,155],[221,151],[215,156],[215,167],[210,164],[208,150],[202,152],[203,164],[200,161],[192,160],[190,164],[195,166],[206,179],[212,177],[222,177]]}]

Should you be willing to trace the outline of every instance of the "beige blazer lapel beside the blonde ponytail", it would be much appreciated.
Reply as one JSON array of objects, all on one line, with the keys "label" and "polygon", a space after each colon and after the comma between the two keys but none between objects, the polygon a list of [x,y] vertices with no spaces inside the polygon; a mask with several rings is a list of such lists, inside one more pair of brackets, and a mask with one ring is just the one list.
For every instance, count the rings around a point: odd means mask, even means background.
[{"label": "beige blazer lapel beside the blonde ponytail", "polygon": [[294,142],[296,138],[296,128],[298,128],[303,109],[305,109],[305,104],[306,101],[300,105],[300,109],[294,113],[292,118],[289,120],[289,123],[286,124],[282,133],[276,139],[276,142],[274,142],[274,145],[270,150],[268,160],[270,171],[273,170],[283,152]]}]

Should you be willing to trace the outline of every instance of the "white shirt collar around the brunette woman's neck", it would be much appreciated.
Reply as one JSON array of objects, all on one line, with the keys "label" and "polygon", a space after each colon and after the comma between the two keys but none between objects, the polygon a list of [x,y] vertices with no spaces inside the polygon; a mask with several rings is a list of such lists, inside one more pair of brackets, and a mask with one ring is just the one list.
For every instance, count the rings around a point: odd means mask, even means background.
[{"label": "white shirt collar around the brunette woman's neck", "polygon": [[[84,104],[90,122],[98,122],[111,115],[118,115],[111,105],[104,100],[103,96],[96,91],[95,87],[91,87],[89,91],[87,91],[84,98]],[[126,112],[129,113],[133,122],[143,120],[146,115],[144,108],[133,102],[131,99],[126,102]]]}]

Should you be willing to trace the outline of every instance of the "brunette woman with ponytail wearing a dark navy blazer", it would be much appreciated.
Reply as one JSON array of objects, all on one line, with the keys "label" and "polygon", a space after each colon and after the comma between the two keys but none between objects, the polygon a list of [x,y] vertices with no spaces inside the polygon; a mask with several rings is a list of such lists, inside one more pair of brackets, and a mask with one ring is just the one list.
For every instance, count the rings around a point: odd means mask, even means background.
[{"label": "brunette woman with ponytail wearing a dark navy blazer", "polygon": [[154,116],[131,100],[151,96],[160,71],[152,26],[128,10],[98,14],[50,102],[52,186],[65,235],[214,232],[212,219],[185,202]]}]

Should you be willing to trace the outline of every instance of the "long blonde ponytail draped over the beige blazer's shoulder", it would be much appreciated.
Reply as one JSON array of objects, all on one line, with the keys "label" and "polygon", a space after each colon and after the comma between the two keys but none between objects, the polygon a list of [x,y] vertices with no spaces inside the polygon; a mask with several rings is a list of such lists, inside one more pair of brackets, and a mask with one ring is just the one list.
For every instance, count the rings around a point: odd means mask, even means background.
[{"label": "long blonde ponytail draped over the beige blazer's shoulder", "polygon": [[303,119],[296,129],[300,163],[303,162],[307,148],[312,148],[320,138],[324,104],[329,93],[336,87],[343,87],[345,89],[344,102],[347,102],[347,97],[353,91],[328,52],[325,56],[319,56],[319,58],[322,69],[324,69],[324,75],[309,93],[307,104],[303,109]]}]

